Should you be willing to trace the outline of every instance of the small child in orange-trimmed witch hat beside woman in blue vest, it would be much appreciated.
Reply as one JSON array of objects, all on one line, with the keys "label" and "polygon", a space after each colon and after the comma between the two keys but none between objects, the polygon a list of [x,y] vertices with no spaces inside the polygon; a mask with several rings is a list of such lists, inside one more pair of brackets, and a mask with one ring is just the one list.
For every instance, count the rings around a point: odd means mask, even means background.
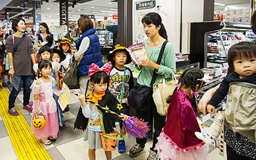
[{"label": "small child in orange-trimmed witch hat beside woman in blue vest", "polygon": [[[70,33],[66,33],[66,35],[61,39],[60,43],[58,43],[58,45],[56,45],[58,47],[58,49],[60,49],[61,52],[63,52],[66,56],[66,59],[63,60],[62,62],[60,62],[60,64],[62,65],[62,67],[64,67],[64,70],[60,70],[61,73],[66,73],[66,71],[68,70],[70,64],[73,63],[73,58],[72,58],[72,52],[71,50],[71,37],[70,37]],[[63,77],[62,77],[63,78]],[[70,108],[68,106],[66,106],[65,111],[70,111]]]}]

